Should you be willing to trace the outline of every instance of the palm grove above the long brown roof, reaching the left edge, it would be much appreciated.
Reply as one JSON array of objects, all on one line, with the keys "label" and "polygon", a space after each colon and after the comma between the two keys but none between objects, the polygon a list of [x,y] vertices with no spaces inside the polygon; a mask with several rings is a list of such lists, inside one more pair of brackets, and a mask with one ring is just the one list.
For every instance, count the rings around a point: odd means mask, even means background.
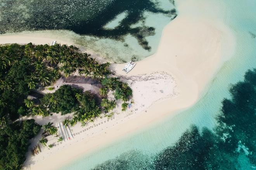
[{"label": "palm grove above the long brown roof, reaching the left edge", "polygon": [[[36,87],[55,82],[60,74],[72,75],[79,69],[81,74],[103,78],[111,72],[109,63],[99,64],[86,53],[79,53],[75,46],[10,44],[0,46],[0,117],[15,120],[29,114],[24,99]],[[35,106],[34,114],[45,110]]]}]

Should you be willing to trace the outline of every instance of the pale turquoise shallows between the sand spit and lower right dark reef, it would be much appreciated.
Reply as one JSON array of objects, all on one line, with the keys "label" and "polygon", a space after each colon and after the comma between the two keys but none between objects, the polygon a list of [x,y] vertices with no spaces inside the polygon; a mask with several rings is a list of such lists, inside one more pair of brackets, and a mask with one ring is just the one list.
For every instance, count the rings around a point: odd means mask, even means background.
[{"label": "pale turquoise shallows between the sand spit and lower right dark reef", "polygon": [[[179,2],[186,2],[186,0],[176,2],[177,10]],[[194,7],[200,5],[201,2],[205,3],[202,0],[192,0],[192,2],[195,4]],[[109,165],[112,166],[112,168],[108,167],[109,169],[118,169],[116,167],[122,167],[120,162],[124,162],[130,167],[136,167],[134,169],[142,169],[142,167],[151,169],[152,156],[175,143],[191,124],[209,129],[216,126],[214,118],[220,113],[221,101],[230,97],[228,90],[231,85],[242,81],[248,69],[256,68],[256,39],[254,37],[256,34],[256,1],[209,0],[208,2],[211,5],[216,3],[223,9],[221,14],[216,15],[232,29],[237,39],[237,48],[234,56],[224,63],[212,82],[209,83],[201,99],[193,107],[179,111],[175,117],[170,116],[160,124],[121,139],[105,148],[100,148],[90,155],[85,155],[69,166],[61,168],[62,170],[90,169],[114,158],[104,166]],[[198,12],[196,8],[192,8],[191,11]],[[215,15],[212,10],[199,12]],[[243,156],[241,155],[241,157]],[[239,160],[241,164],[248,165],[245,158]],[[246,167],[244,168],[246,169]]]}]

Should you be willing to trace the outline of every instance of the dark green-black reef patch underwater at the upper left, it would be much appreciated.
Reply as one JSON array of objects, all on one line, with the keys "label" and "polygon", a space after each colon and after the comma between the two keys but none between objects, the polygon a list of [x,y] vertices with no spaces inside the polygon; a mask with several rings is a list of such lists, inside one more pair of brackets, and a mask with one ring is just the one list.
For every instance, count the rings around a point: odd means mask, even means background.
[{"label": "dark green-black reef patch underwater at the upper left", "polygon": [[[170,1],[174,4],[174,1]],[[145,37],[155,34],[150,26],[130,26],[144,23],[145,11],[176,17],[176,10],[163,10],[158,2],[150,0],[2,0],[0,4],[0,33],[33,30],[67,29],[81,35],[123,40],[131,34],[146,50],[150,50]],[[117,15],[126,17],[114,29],[104,26]]]}]

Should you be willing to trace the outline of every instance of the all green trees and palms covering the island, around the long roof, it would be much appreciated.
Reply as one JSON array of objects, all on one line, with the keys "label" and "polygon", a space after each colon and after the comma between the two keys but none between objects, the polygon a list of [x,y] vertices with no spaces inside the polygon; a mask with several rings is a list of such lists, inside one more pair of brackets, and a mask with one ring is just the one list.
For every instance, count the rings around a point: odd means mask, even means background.
[{"label": "all green trees and palms covering the island, around the long roof", "polygon": [[[116,100],[121,99],[126,105],[132,90],[119,78],[108,77],[111,74],[109,65],[99,64],[87,53],[80,53],[75,46],[32,43],[0,46],[0,170],[20,169],[25,160],[28,140],[41,129],[33,119],[16,121],[19,117],[74,113],[73,119],[65,120],[64,124],[73,126],[81,122],[85,126],[103,110],[108,112],[116,107],[115,100],[106,99],[109,90],[114,91]],[[76,70],[80,75],[102,82],[102,104],[96,104],[94,95],[89,91],[83,92],[69,85],[59,87],[54,93],[47,93],[39,101],[28,98],[33,90],[52,85],[61,76],[71,76]],[[57,135],[57,128],[51,122],[43,128],[45,133]],[[47,139],[42,138],[40,143],[46,145]]]}]

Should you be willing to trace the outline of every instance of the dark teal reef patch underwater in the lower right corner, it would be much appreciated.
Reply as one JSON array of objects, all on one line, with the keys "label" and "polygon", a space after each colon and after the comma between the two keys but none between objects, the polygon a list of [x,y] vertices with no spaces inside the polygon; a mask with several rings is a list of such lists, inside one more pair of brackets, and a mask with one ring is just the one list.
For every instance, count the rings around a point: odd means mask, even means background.
[{"label": "dark teal reef patch underwater in the lower right corner", "polygon": [[[256,69],[230,88],[214,129],[192,125],[156,155],[129,151],[94,170],[242,170],[256,167]],[[218,110],[216,110],[218,112]]]}]

